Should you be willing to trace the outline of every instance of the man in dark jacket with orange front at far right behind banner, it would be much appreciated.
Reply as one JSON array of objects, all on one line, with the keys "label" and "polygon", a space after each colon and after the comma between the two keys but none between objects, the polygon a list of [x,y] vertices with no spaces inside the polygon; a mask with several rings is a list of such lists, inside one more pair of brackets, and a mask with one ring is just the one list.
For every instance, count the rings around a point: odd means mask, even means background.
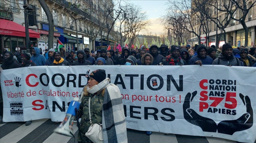
[{"label": "man in dark jacket with orange front at far right behind banner", "polygon": [[255,63],[254,57],[248,56],[248,49],[244,48],[240,50],[240,61],[243,62],[245,67],[252,67],[252,65]]}]

